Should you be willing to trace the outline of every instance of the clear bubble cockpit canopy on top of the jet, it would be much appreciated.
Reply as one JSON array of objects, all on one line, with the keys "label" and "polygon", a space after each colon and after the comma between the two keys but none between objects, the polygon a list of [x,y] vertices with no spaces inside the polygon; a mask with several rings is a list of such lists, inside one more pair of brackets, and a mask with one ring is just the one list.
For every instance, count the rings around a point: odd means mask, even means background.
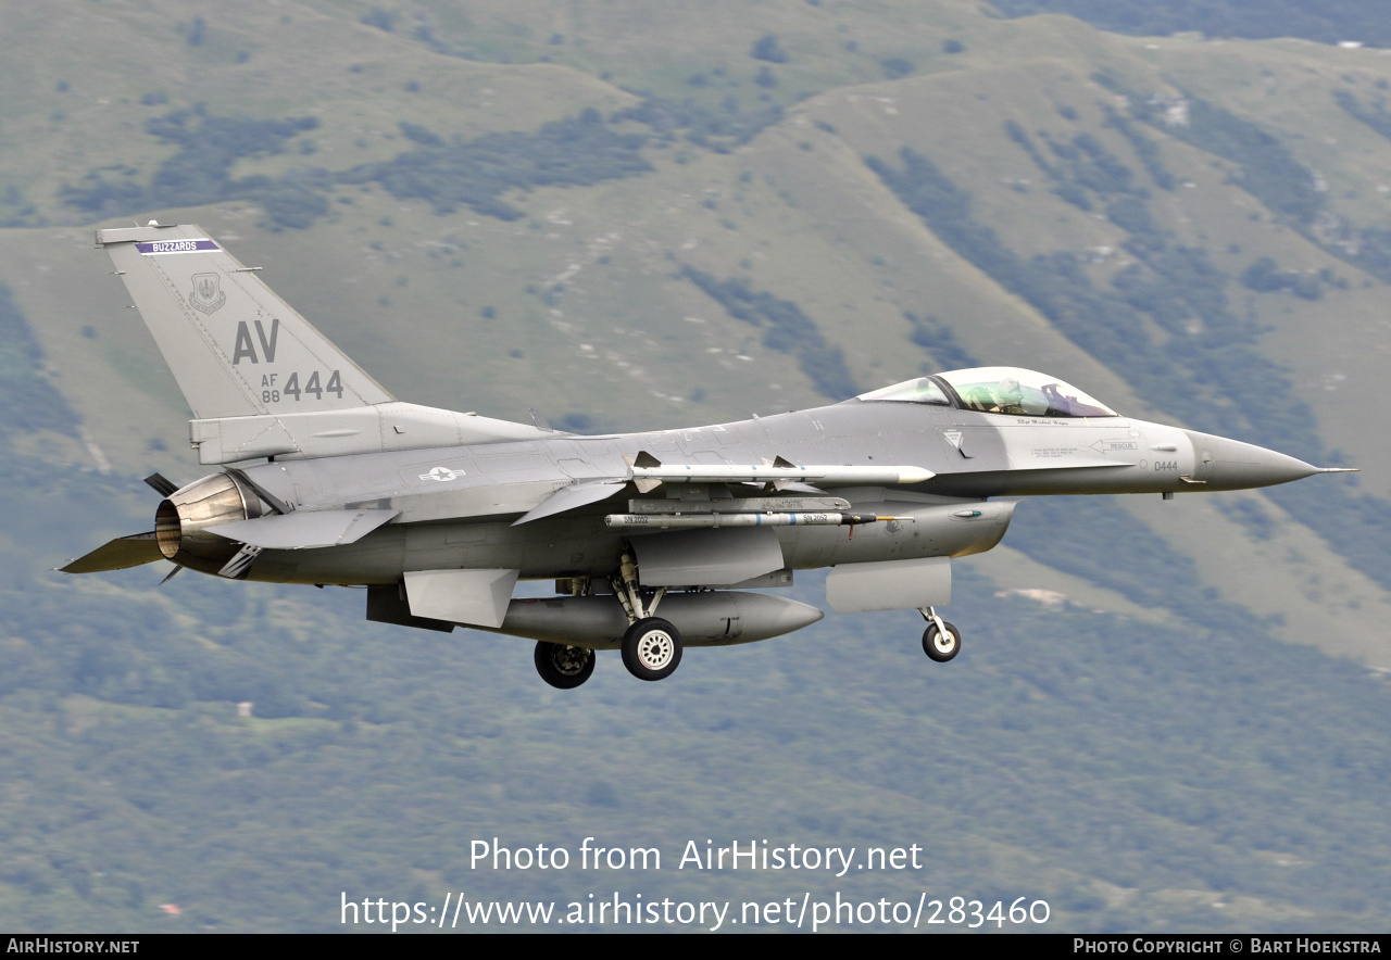
[{"label": "clear bubble cockpit canopy on top of the jet", "polygon": [[931,403],[1011,417],[1116,417],[1116,411],[1056,376],[1018,367],[974,367],[919,376],[861,393],[871,403]]}]

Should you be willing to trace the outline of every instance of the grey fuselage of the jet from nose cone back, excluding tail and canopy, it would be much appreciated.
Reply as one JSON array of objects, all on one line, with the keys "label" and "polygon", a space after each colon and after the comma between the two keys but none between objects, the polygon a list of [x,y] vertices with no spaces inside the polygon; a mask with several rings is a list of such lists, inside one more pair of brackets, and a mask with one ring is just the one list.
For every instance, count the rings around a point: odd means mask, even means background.
[{"label": "grey fuselage of the jet from nose cone back, excluding tail and canopy", "polygon": [[[406,571],[512,568],[524,579],[608,577],[625,536],[604,515],[627,508],[632,488],[605,502],[513,527],[561,488],[623,477],[647,452],[662,461],[914,464],[936,474],[912,486],[832,490],[857,508],[922,522],[780,528],[793,570],[842,563],[963,556],[990,549],[1013,504],[963,502],[1059,493],[1155,493],[1284,482],[1313,472],[1298,460],[1235,440],[1128,420],[988,414],[922,403],[847,400],[814,410],[690,429],[284,458],[245,468],[296,510],[399,510],[388,525],[331,550],[266,550],[249,579],[395,584]],[[743,488],[748,489],[748,488]],[[716,499],[725,489],[666,485],[647,497]],[[694,503],[693,503],[694,507]],[[637,533],[644,535],[644,533]],[[202,565],[202,564],[195,564]],[[216,572],[216,564],[207,564]]]}]

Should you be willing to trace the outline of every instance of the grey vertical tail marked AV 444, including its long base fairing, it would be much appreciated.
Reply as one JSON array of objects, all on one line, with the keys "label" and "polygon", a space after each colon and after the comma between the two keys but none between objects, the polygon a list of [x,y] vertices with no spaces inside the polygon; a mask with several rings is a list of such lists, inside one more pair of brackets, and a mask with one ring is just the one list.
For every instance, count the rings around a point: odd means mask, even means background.
[{"label": "grey vertical tail marked AV 444, including its long base fairing", "polygon": [[97,231],[193,410],[203,464],[547,436],[401,403],[198,226]]}]

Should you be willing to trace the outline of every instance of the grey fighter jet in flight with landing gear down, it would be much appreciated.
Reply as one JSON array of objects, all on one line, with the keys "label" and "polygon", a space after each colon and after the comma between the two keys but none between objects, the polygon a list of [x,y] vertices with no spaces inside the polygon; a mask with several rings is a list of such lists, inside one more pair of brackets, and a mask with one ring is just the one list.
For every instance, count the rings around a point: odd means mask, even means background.
[{"label": "grey fighter jet in flight with landing gear down", "polygon": [[[168,560],[230,579],[364,588],[367,620],[537,640],[576,688],[595,652],[669,677],[687,646],[822,618],[764,588],[830,567],[837,613],[918,610],[922,649],[961,634],[938,607],[951,558],[989,550],[1013,497],[1237,490],[1319,472],[1249,443],[1117,414],[1054,376],[982,367],[814,410],[579,436],[402,403],[195,225],[99,229],[192,408],[216,472],[154,529],[67,572]],[[170,574],[172,577],[172,572]],[[517,579],[555,596],[513,599]]]}]

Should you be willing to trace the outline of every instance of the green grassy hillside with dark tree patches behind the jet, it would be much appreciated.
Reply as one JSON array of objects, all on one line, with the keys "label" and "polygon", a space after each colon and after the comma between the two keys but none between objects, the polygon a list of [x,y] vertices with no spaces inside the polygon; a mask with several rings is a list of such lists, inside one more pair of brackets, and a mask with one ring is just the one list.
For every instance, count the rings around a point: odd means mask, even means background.
[{"label": "green grassy hillside with dark tree patches behind the jet", "polygon": [[[480,886],[473,838],[606,831],[922,842],[904,896],[1057,928],[1384,928],[1380,51],[956,0],[56,10],[0,57],[13,925],[332,927],[342,889]],[[1365,472],[1025,503],[946,670],[914,617],[830,617],[565,697],[356,593],[45,572],[206,471],[92,250],[132,218],[202,224],[417,403],[595,432],[1018,364]],[[725,879],[650,889],[783,895]]]}]

